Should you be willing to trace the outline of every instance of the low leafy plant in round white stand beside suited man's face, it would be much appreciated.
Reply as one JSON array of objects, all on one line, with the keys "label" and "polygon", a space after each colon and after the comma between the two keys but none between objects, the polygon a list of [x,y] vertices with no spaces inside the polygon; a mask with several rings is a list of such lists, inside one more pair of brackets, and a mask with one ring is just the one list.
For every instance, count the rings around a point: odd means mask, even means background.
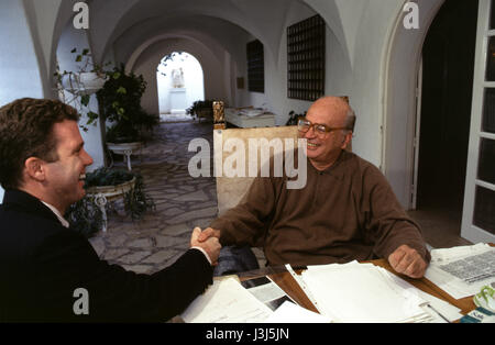
[{"label": "low leafy plant in round white stand beside suited man's face", "polygon": [[132,220],[140,220],[155,209],[153,199],[144,192],[143,178],[138,172],[99,168],[86,174],[86,197],[66,213],[72,227],[90,237],[107,229],[109,201],[122,199],[124,211]]}]

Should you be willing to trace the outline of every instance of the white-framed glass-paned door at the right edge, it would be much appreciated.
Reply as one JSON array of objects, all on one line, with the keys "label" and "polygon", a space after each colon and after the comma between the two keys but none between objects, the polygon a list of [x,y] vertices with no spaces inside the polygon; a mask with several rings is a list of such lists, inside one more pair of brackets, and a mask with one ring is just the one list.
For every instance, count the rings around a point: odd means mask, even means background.
[{"label": "white-framed glass-paned door at the right edge", "polygon": [[495,0],[480,0],[475,58],[461,235],[495,243]]}]

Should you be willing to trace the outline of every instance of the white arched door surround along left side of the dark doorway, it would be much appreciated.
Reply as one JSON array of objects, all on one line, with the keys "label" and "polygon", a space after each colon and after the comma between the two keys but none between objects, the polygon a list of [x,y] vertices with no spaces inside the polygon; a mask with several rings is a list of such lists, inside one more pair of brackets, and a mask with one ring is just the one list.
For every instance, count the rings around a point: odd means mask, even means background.
[{"label": "white arched door surround along left side of the dark doorway", "polygon": [[443,2],[444,0],[418,1],[420,22],[417,30],[406,30],[403,25],[405,12],[397,13],[384,59],[382,164],[385,176],[406,208],[410,205],[414,180],[416,86],[422,45]]}]

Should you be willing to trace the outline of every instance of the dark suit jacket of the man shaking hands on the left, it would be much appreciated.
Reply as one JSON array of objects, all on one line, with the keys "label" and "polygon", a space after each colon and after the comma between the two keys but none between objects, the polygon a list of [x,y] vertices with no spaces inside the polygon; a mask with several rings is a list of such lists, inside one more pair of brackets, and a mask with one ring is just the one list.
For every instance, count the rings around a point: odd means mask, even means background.
[{"label": "dark suit jacket of the man shaking hands on the left", "polygon": [[[0,322],[163,322],[211,282],[212,268],[197,249],[139,275],[99,259],[36,198],[8,190],[0,205]],[[74,313],[78,288],[88,291],[89,315]]]}]

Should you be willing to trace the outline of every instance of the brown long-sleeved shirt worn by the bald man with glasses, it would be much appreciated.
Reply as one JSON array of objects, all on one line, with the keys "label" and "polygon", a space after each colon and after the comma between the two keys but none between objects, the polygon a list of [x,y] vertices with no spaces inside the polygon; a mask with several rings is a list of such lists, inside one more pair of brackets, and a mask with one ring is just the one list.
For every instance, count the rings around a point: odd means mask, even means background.
[{"label": "brown long-sleeved shirt worn by the bald man with glasses", "polygon": [[221,244],[262,241],[270,265],[387,258],[403,244],[429,261],[419,226],[375,166],[348,152],[324,171],[307,166],[302,189],[287,189],[286,177],[256,178],[243,200],[211,223]]}]

